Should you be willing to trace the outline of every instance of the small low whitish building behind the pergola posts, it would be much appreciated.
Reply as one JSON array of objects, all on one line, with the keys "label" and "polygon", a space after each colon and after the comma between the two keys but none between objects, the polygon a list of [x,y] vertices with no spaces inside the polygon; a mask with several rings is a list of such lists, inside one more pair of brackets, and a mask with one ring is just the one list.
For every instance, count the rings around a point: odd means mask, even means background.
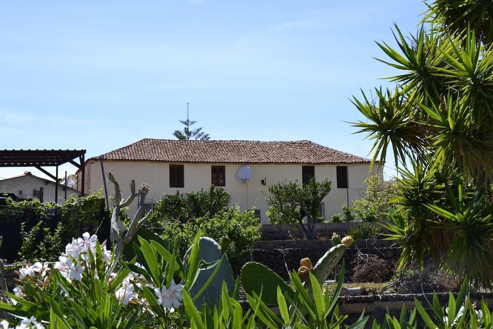
[{"label": "small low whitish building behind the pergola posts", "polygon": [[[34,176],[29,171],[24,174],[0,180],[0,193],[13,193],[20,199],[38,199],[41,202],[55,201],[55,182]],[[67,186],[67,198],[80,196],[80,192]],[[58,184],[58,203],[65,201],[65,186]]]}]

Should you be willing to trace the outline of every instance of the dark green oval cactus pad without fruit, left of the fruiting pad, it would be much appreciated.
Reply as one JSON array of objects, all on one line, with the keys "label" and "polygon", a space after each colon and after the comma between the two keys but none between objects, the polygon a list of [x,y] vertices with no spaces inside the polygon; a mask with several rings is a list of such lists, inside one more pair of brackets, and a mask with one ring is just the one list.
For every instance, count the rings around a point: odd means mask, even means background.
[{"label": "dark green oval cactus pad without fruit, left of the fruiting pad", "polygon": [[291,300],[294,297],[294,291],[289,287],[282,278],[269,267],[257,262],[248,262],[243,266],[241,273],[243,289],[247,294],[255,292],[260,295],[262,292],[262,301],[268,305],[277,306],[277,287],[281,287],[283,294],[287,294]]}]

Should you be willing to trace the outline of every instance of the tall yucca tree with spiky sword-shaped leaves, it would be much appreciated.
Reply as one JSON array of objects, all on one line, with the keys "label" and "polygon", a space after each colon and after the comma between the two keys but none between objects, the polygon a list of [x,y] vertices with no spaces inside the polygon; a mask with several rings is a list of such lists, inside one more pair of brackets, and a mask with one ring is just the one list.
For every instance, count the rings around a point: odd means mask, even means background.
[{"label": "tall yucca tree with spiky sword-shaped leaves", "polygon": [[395,90],[354,98],[375,141],[391,147],[403,176],[402,205],[389,229],[403,245],[400,265],[442,269],[493,282],[493,25],[491,1],[435,0],[415,35],[395,27],[398,49],[378,45],[399,70]]}]

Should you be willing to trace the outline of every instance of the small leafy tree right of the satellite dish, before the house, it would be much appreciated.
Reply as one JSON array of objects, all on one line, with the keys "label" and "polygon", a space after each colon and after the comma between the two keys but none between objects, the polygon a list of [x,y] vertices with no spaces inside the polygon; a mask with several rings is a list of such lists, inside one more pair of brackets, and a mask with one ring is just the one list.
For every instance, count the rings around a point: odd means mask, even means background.
[{"label": "small leafy tree right of the satellite dish, before the house", "polygon": [[[289,224],[302,229],[305,239],[315,239],[315,224],[321,222],[320,203],[329,194],[331,182],[312,178],[300,186],[298,181],[269,186],[267,217],[275,225]],[[306,222],[305,219],[306,218]]]}]

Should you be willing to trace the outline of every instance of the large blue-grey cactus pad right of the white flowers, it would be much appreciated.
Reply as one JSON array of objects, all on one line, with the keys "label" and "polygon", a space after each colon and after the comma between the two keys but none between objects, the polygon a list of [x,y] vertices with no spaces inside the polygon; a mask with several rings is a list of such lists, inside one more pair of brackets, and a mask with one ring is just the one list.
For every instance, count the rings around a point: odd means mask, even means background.
[{"label": "large blue-grey cactus pad right of the white flowers", "polygon": [[[190,256],[192,251],[192,247],[188,248],[185,256],[183,257],[183,267],[186,268],[187,259]],[[208,237],[201,237],[199,241],[199,259],[203,259],[206,262],[211,262],[215,260],[221,259],[223,254],[221,253],[221,247],[217,242]],[[211,277],[214,272],[215,267],[210,269],[201,270],[197,280],[190,288],[188,292],[190,296],[193,298],[206,284],[206,282]],[[202,311],[202,307],[204,302],[208,304],[217,305],[221,299],[221,289],[222,283],[226,282],[226,286],[228,287],[228,292],[230,294],[233,293],[235,289],[235,279],[233,276],[233,270],[231,269],[231,265],[229,264],[228,257],[224,255],[224,259],[221,262],[219,270],[215,274],[209,286],[207,286],[206,290],[194,301],[195,306],[199,311]]]}]

